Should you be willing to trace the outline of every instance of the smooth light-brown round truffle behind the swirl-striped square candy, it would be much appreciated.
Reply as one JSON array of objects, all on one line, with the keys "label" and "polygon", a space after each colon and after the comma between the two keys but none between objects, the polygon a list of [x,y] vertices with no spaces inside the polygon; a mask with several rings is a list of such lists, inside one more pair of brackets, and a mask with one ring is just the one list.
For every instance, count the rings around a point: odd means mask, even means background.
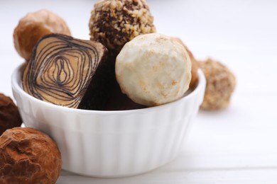
[{"label": "smooth light-brown round truffle behind the swirl-striped square candy", "polygon": [[70,35],[70,30],[63,18],[51,11],[42,9],[28,13],[21,18],[13,32],[14,47],[18,54],[28,61],[36,42],[50,33]]}]

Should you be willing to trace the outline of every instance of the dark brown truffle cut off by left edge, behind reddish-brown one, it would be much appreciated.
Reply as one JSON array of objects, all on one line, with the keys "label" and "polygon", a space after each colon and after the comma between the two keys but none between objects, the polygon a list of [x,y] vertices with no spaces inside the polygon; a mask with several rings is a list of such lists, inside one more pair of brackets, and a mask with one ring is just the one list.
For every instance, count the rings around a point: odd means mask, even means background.
[{"label": "dark brown truffle cut off by left edge, behind reddish-brown one", "polygon": [[9,96],[0,93],[0,135],[13,127],[20,127],[22,124],[21,116],[16,104]]}]

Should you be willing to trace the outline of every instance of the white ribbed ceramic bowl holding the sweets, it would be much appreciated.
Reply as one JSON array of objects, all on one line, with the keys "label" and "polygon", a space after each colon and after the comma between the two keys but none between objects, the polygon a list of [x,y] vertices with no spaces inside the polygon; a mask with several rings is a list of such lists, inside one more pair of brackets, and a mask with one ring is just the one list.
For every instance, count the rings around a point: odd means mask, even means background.
[{"label": "white ribbed ceramic bowl holding the sweets", "polygon": [[[205,76],[180,100],[153,108],[121,111],[78,110],[43,102],[22,89],[22,66],[12,89],[26,127],[58,144],[63,169],[85,176],[119,177],[151,171],[182,150],[188,128],[205,93]],[[55,164],[55,163],[53,163]]]}]

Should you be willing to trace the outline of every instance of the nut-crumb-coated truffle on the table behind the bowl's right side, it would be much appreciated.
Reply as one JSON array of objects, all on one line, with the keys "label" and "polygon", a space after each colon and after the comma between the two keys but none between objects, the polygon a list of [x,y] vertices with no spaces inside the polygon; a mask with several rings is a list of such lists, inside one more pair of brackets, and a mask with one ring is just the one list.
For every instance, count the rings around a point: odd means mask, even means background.
[{"label": "nut-crumb-coated truffle on the table behind the bowl's right side", "polygon": [[207,80],[205,96],[200,108],[219,110],[227,107],[236,86],[234,74],[223,64],[212,59],[199,62],[199,66]]}]

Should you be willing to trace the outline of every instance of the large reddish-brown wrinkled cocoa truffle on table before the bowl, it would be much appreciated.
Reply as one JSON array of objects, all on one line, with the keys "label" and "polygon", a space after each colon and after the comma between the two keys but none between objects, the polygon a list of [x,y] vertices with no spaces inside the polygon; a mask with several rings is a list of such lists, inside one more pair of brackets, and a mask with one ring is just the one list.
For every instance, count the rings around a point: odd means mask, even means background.
[{"label": "large reddish-brown wrinkled cocoa truffle on table before the bowl", "polygon": [[55,183],[62,160],[48,135],[28,127],[6,130],[0,137],[0,183]]}]

